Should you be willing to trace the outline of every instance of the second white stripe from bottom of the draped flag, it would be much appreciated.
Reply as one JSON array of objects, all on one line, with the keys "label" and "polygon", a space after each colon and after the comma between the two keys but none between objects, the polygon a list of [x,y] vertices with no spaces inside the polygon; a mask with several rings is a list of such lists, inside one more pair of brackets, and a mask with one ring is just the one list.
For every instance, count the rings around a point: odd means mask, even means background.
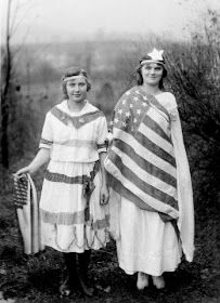
[{"label": "second white stripe from bottom of the draped flag", "polygon": [[122,159],[121,161],[122,161],[124,166],[126,166],[128,168],[132,168],[132,171],[135,172],[135,174],[140,179],[145,181],[151,186],[161,190],[163,193],[170,195],[172,197],[176,197],[176,195],[177,195],[176,187],[170,186],[166,182],[163,182],[161,180],[158,180],[157,177],[155,177],[153,174],[147,173],[144,167],[140,167],[139,164],[137,164],[135,161],[133,161],[133,159],[130,158],[130,154],[129,154],[129,156],[127,156],[126,154],[121,153],[121,150],[115,146],[112,147],[112,150]]}]

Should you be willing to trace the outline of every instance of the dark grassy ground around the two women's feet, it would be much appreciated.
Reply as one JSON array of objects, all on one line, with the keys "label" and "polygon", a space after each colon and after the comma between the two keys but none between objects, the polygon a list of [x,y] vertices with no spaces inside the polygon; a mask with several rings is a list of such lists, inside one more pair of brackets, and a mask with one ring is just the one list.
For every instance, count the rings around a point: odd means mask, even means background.
[{"label": "dark grassy ground around the two women's feet", "polygon": [[[11,169],[15,171],[29,159],[23,159]],[[69,299],[59,297],[59,286],[64,268],[62,255],[47,249],[37,255],[23,254],[23,246],[12,203],[12,179],[7,172],[1,176],[0,212],[0,291],[4,300],[14,302],[148,302],[148,303],[217,303],[220,300],[220,268],[218,247],[218,213],[215,209],[196,212],[196,250],[192,263],[184,260],[174,273],[166,273],[167,287],[157,291],[152,284],[144,291],[135,288],[137,276],[126,275],[117,264],[115,242],[106,249],[92,252],[90,279],[98,286],[92,299],[75,293]],[[42,174],[35,176],[40,189]],[[0,302],[7,302],[2,301]],[[8,301],[9,302],[9,301]]]}]

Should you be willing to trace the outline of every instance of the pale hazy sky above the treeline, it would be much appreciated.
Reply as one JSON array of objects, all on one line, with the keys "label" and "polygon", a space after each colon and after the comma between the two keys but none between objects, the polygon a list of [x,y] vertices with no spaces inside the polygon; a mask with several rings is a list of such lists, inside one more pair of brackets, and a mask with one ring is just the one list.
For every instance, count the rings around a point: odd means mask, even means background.
[{"label": "pale hazy sky above the treeline", "polygon": [[[1,42],[9,0],[0,0]],[[207,9],[219,0],[12,0],[12,41],[53,42],[73,39],[156,34],[189,39]]]}]

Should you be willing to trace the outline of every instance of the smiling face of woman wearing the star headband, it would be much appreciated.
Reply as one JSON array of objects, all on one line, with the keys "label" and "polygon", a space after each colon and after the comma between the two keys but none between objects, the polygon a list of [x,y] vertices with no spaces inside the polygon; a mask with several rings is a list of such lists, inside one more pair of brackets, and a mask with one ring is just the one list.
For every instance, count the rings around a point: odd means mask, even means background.
[{"label": "smiling face of woman wearing the star headband", "polygon": [[143,84],[158,85],[163,76],[163,66],[157,63],[146,63],[141,68]]}]

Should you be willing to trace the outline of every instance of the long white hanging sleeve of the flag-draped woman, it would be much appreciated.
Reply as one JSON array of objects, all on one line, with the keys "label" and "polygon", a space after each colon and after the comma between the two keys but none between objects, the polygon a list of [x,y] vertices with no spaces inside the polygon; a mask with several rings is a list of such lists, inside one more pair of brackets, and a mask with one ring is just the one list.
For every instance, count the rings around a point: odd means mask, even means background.
[{"label": "long white hanging sleeve of the flag-draped woman", "polygon": [[171,137],[177,162],[178,202],[180,211],[178,227],[185,259],[192,262],[194,254],[194,206],[190,167],[177,105],[169,113]]}]

